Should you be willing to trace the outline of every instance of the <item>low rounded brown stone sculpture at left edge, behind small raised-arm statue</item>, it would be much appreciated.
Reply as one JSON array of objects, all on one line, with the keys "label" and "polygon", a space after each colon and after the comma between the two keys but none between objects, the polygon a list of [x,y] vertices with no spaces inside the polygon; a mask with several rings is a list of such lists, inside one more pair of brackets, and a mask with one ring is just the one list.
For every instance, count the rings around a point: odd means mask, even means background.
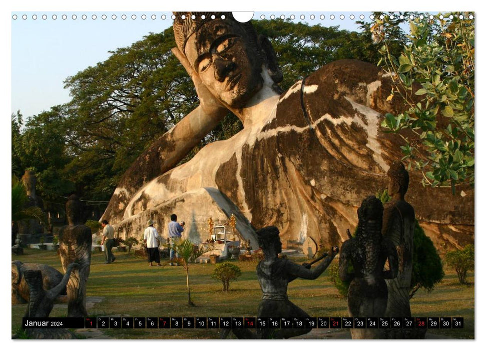
[{"label": "low rounded brown stone sculpture at left edge, behind small raised-arm statue", "polygon": [[[63,279],[63,274],[54,267],[39,263],[22,263],[12,261],[12,304],[27,303],[29,301],[30,290],[24,273],[28,270],[40,271],[42,273],[42,283],[44,290],[50,290],[58,285]],[[66,285],[66,284],[65,284]],[[66,301],[66,286],[59,293],[58,300]],[[63,298],[64,295],[64,298]]]}]

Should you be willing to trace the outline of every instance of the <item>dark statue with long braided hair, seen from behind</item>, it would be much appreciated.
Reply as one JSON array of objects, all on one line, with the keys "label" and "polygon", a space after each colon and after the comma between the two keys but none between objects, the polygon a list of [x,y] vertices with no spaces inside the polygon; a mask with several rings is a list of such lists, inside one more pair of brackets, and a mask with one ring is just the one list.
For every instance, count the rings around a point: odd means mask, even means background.
[{"label": "dark statue with long braided hair, seen from behind", "polygon": [[[396,277],[396,249],[381,236],[383,205],[374,196],[367,197],[358,209],[356,236],[346,240],[339,257],[339,277],[350,281],[348,311],[351,317],[385,315],[388,290],[385,279]],[[386,260],[389,270],[383,271]],[[354,272],[348,271],[352,265]],[[351,329],[353,339],[382,338],[381,329]]]}]

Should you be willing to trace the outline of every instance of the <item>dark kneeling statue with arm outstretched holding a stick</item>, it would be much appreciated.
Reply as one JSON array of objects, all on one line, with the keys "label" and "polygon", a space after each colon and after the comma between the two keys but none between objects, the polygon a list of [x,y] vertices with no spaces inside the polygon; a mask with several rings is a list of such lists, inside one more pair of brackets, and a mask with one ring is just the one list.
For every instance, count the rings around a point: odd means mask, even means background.
[{"label": "dark kneeling statue with arm outstretched holding a stick", "polygon": [[[282,252],[279,230],[266,227],[257,231],[258,244],[263,250],[264,259],[257,266],[257,277],[262,289],[262,301],[258,306],[259,317],[309,317],[300,307],[289,301],[288,283],[295,278],[316,279],[329,266],[339,252],[337,246],[329,251],[328,256],[315,268],[298,265],[286,258],[279,258]],[[258,338],[289,338],[306,334],[311,329],[256,329]]]}]

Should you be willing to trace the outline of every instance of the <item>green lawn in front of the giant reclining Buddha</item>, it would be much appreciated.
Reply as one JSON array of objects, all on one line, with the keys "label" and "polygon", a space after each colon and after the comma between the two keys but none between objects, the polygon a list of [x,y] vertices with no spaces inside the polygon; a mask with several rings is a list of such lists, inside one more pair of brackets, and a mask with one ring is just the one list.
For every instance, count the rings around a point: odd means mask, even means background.
[{"label": "green lawn in front of the giant reclining Buddha", "polygon": [[[211,278],[214,265],[190,265],[191,297],[195,307],[187,306],[184,268],[148,267],[143,258],[115,252],[117,260],[106,265],[102,253],[92,256],[87,295],[104,299],[88,307],[91,316],[132,317],[224,317],[256,316],[261,290],[256,279],[256,263],[235,262],[242,274],[222,291],[222,283]],[[62,271],[61,261],[53,251],[26,250],[12,260],[44,263]],[[297,260],[299,263],[303,259]],[[337,263],[337,262],[336,262]],[[453,270],[445,270],[443,281],[431,292],[418,291],[411,300],[412,315],[423,317],[464,317],[463,329],[434,329],[436,335],[474,338],[474,285],[460,285]],[[473,282],[470,274],[468,280]],[[297,279],[289,284],[292,302],[312,316],[347,316],[347,301],[338,296],[326,272],[316,280]],[[12,306],[12,330],[21,326],[26,305]],[[55,305],[51,316],[65,316],[66,305]],[[105,329],[115,338],[219,338],[217,329]]]}]

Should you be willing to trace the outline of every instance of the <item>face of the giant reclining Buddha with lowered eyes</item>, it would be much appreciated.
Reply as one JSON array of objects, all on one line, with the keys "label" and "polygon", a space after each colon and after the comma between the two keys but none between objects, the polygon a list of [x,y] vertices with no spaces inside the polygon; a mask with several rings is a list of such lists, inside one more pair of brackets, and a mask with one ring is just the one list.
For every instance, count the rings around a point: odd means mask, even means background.
[{"label": "face of the giant reclining Buddha with lowered eyes", "polygon": [[184,53],[204,85],[229,107],[245,107],[263,86],[256,43],[233,21],[204,24],[189,37]]}]

